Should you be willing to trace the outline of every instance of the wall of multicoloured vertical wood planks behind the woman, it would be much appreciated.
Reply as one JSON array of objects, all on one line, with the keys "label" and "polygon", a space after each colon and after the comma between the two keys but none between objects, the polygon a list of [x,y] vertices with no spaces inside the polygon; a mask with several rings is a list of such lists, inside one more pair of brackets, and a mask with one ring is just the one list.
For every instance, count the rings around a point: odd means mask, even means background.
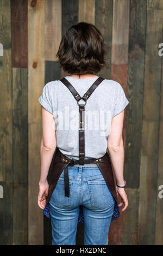
[{"label": "wall of multicoloured vertical wood planks behind the woman", "polygon": [[[163,0],[0,0],[0,225],[2,245],[51,245],[50,220],[37,206],[43,86],[66,73],[56,53],[78,22],[104,35],[110,69],[97,75],[121,84],[124,177],[129,207],[109,231],[109,245],[162,245]],[[51,171],[51,168],[50,168]],[[83,245],[78,223],[76,244]]]}]

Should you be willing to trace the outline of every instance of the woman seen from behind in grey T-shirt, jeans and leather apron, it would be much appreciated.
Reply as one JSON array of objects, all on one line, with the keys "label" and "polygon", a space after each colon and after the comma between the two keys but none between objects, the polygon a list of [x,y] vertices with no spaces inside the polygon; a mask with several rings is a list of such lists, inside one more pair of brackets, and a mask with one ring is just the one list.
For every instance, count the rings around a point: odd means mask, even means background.
[{"label": "woman seen from behind in grey T-shirt, jeans and leather apron", "polygon": [[[45,209],[48,201],[53,245],[76,245],[81,207],[84,245],[108,245],[117,195],[122,200],[118,206],[124,204],[122,211],[128,206],[122,128],[129,102],[118,82],[94,74],[107,66],[107,50],[94,25],[80,22],[67,29],[57,57],[68,75],[48,82],[39,98],[42,139],[38,205]],[[47,175],[56,149],[49,187]]]}]

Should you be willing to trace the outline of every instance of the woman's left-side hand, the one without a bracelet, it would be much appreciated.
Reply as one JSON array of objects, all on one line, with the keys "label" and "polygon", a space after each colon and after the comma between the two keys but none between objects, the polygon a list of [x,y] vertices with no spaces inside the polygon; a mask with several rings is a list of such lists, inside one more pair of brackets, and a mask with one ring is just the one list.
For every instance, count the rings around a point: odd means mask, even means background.
[{"label": "woman's left-side hand, the one without a bracelet", "polygon": [[49,188],[48,182],[39,183],[39,195],[37,199],[37,204],[42,210],[45,209],[46,196],[48,195],[48,188]]}]

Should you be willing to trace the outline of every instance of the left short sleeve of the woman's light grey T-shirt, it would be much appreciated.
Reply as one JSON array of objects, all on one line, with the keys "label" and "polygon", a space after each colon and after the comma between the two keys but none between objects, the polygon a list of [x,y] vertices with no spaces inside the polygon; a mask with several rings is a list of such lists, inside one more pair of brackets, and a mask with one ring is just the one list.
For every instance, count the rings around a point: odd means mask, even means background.
[{"label": "left short sleeve of the woman's light grey T-shirt", "polygon": [[49,90],[49,83],[47,83],[42,90],[41,96],[38,98],[40,104],[49,111],[51,114],[53,113],[51,97],[50,97],[50,90]]}]

